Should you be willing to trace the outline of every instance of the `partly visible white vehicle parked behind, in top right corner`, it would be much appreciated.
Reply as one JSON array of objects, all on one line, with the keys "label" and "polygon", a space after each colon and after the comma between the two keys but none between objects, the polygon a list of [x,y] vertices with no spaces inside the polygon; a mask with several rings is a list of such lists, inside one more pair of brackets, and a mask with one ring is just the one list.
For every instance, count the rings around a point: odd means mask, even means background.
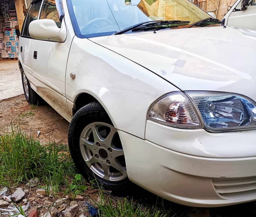
[{"label": "partly visible white vehicle parked behind, in top right corner", "polygon": [[222,24],[256,30],[256,0],[238,0],[221,20]]}]

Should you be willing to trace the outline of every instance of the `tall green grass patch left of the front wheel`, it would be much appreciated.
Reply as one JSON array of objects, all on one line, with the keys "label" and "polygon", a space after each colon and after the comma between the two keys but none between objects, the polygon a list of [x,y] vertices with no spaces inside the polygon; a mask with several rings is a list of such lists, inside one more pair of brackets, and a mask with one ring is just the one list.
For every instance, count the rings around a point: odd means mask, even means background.
[{"label": "tall green grass patch left of the front wheel", "polygon": [[59,191],[72,165],[70,156],[62,157],[62,151],[54,143],[41,145],[18,128],[0,135],[0,185],[11,189],[37,177]]}]

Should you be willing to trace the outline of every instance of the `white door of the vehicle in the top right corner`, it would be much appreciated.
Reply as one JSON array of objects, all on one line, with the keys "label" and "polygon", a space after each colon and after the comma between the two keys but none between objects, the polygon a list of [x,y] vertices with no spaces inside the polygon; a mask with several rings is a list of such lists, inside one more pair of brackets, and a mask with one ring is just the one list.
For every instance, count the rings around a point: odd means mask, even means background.
[{"label": "white door of the vehicle in the top right corner", "polygon": [[240,1],[227,20],[228,26],[241,27],[256,30],[256,0],[249,1],[246,10],[241,10],[242,1]]}]

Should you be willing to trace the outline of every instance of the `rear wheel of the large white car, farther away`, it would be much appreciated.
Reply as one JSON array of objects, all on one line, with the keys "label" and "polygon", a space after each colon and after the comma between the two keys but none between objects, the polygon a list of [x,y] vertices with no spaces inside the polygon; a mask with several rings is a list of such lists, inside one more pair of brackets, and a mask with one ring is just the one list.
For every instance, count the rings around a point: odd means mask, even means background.
[{"label": "rear wheel of the large white car, farther away", "polygon": [[22,80],[22,86],[23,91],[26,100],[29,102],[30,105],[38,105],[38,94],[31,88],[29,80],[27,79],[27,76],[24,73],[24,70],[21,68],[21,80]]}]

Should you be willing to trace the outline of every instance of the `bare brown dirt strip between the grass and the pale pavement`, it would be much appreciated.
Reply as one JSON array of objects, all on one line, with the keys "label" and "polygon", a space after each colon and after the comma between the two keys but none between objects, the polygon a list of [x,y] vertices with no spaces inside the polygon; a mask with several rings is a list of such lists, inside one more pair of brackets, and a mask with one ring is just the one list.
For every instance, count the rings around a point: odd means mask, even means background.
[{"label": "bare brown dirt strip between the grass and the pale pavement", "polygon": [[49,105],[31,107],[22,94],[17,97],[0,100],[0,133],[11,130],[11,125],[36,137],[40,142],[54,141],[68,144],[67,132],[69,123]]}]

